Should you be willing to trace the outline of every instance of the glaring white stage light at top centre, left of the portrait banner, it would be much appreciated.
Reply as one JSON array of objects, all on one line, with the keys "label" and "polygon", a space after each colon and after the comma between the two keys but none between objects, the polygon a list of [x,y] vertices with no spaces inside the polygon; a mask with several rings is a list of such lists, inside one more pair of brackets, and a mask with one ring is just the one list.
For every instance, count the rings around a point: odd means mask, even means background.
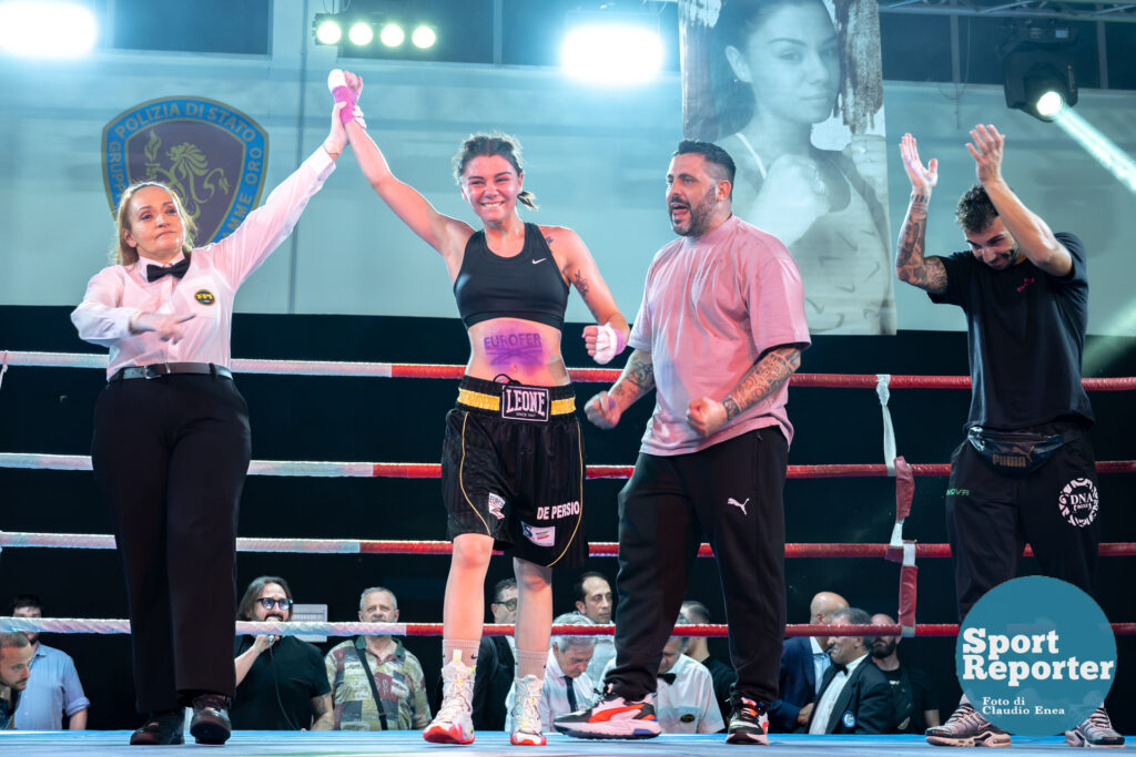
[{"label": "glaring white stage light at top centre, left of the portrait banner", "polygon": [[569,14],[560,51],[569,76],[609,85],[636,84],[654,78],[662,58],[654,15]]}]

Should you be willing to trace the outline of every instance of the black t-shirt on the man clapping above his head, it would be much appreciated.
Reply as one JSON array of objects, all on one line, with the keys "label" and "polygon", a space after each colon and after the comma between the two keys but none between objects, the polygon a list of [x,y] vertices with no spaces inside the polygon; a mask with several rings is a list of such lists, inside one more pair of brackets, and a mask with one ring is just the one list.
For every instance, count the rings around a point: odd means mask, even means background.
[{"label": "black t-shirt on the man clapping above his head", "polygon": [[1013,430],[1054,420],[1093,422],[1080,384],[1088,323],[1085,247],[1072,234],[1058,241],[1072,255],[1066,278],[1026,260],[994,270],[969,251],[941,258],[946,292],[936,303],[967,314],[970,415],[967,427]]}]

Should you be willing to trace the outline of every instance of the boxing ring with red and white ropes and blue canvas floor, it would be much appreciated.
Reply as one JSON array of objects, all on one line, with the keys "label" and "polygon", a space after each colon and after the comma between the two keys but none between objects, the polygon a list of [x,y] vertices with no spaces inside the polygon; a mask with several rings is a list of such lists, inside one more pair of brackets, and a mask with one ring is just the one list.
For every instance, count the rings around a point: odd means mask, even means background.
[{"label": "boxing ring with red and white ropes and blue canvas floor", "polygon": [[[5,372],[10,368],[86,368],[105,370],[106,355],[43,352],[0,352],[0,390]],[[371,378],[433,378],[459,379],[461,365],[438,365],[423,363],[373,363],[328,362],[294,360],[234,360],[234,373],[265,373],[325,377],[371,377]],[[576,382],[611,382],[619,376],[612,369],[573,369],[569,371]],[[1085,379],[1085,388],[1091,392],[1130,392],[1136,389],[1136,378]],[[950,472],[946,463],[910,464],[896,452],[895,436],[888,410],[892,389],[966,389],[969,377],[944,376],[889,376],[889,375],[835,375],[799,373],[791,379],[793,387],[860,388],[874,389],[879,398],[883,419],[883,460],[879,464],[822,464],[790,465],[790,478],[862,478],[891,477],[895,480],[895,519],[891,539],[883,544],[786,544],[787,558],[849,557],[887,560],[900,565],[897,596],[897,623],[895,625],[841,625],[822,626],[826,636],[885,634],[904,637],[953,637],[957,624],[929,624],[916,622],[918,561],[950,557],[945,544],[920,544],[905,538],[904,522],[911,513],[914,479],[918,477],[945,477]],[[438,407],[437,415],[444,412]],[[91,461],[84,455],[55,455],[35,453],[0,453],[0,468],[40,469],[57,471],[91,470]],[[626,479],[629,465],[588,465],[588,479]],[[1136,473],[1136,461],[1102,461],[1097,463],[1102,474]],[[250,476],[272,477],[334,477],[334,478],[440,478],[437,463],[410,462],[332,462],[332,461],[286,461],[254,460],[250,464]],[[12,548],[49,549],[114,549],[114,537],[98,533],[64,532],[5,532],[0,531],[0,550]],[[237,539],[237,552],[243,553],[303,553],[303,554],[351,554],[351,555],[445,555],[449,541],[389,540],[389,539],[304,539],[277,538],[270,535],[242,537]],[[590,544],[591,556],[615,556],[618,545],[607,541]],[[1027,547],[1026,555],[1029,555]],[[1102,542],[1102,558],[1136,555],[1136,542]],[[700,557],[710,557],[708,545],[703,544]],[[1117,621],[1117,619],[1110,619]],[[791,624],[786,636],[813,636],[821,626]],[[1136,634],[1136,622],[1113,622],[1117,634]],[[51,633],[130,633],[126,620],[103,619],[12,619],[0,617],[3,631],[42,631]],[[303,634],[319,633],[329,637],[354,634],[433,636],[442,633],[441,623],[236,623],[239,633]],[[511,625],[486,624],[485,633],[511,633]],[[553,626],[554,634],[610,634],[611,625]],[[684,625],[676,629],[683,636],[724,637],[726,626],[721,624]],[[945,717],[945,713],[944,713]],[[189,738],[189,737],[187,737]],[[903,755],[908,751],[925,754],[930,747],[921,737],[809,737],[795,734],[771,734],[772,745],[763,748],[780,754],[877,755],[883,750]],[[61,750],[90,751],[108,755],[136,754],[137,747],[127,747],[126,731],[92,732],[0,732],[0,752],[15,748],[25,755],[57,755]],[[199,748],[192,743],[185,747],[162,747],[169,751]],[[234,732],[226,746],[228,754],[236,755],[402,755],[423,749],[445,749],[451,746],[429,745],[418,732]],[[477,732],[474,745],[461,747],[476,754],[533,752],[541,755],[709,755],[725,748],[722,737],[713,735],[662,735],[640,742],[579,741],[560,734],[549,734],[546,747],[512,747],[508,734]],[[1067,748],[1061,737],[1030,739],[1014,737],[1016,754],[1050,751]]]}]

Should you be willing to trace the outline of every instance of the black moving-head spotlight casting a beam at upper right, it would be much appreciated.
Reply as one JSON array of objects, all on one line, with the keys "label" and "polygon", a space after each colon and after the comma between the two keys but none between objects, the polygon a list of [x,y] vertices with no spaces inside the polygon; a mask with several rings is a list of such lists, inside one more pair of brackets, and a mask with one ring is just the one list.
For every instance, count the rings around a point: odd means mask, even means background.
[{"label": "black moving-head spotlight casting a beam at upper right", "polygon": [[1047,23],[1017,27],[1000,47],[1008,108],[1043,121],[1077,104],[1077,78],[1069,54],[1075,26]]}]

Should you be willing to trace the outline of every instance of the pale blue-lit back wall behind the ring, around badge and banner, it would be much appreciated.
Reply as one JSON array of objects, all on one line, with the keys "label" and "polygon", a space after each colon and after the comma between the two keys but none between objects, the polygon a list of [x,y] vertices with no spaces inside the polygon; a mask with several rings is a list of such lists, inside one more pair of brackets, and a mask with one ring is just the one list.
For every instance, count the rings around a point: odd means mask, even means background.
[{"label": "pale blue-lit back wall behind the ring, around badge and banner", "polygon": [[[68,64],[0,58],[0,303],[77,302],[106,263],[112,224],[101,177],[102,127],[132,106],[169,95],[219,100],[269,133],[266,193],[326,134],[335,66],[361,73],[369,131],[395,173],[443,212],[474,221],[451,176],[461,138],[500,128],[525,146],[526,188],[542,210],[526,218],[575,228],[591,247],[620,308],[634,317],[654,250],[671,235],[663,175],[680,134],[675,75],[636,90],[592,90],[558,70],[336,60],[310,42],[300,3],[275,3],[269,57],[102,51]],[[302,103],[302,104],[301,104]],[[1122,148],[1134,149],[1131,94],[1083,92],[1077,111]],[[938,84],[888,83],[888,142],[912,132],[925,157],[939,158],[929,252],[960,249],[958,195],[974,180],[967,131],[993,121],[1009,135],[1005,175],[1055,230],[1081,236],[1089,252],[1089,331],[1136,335],[1117,326],[1131,283],[1134,197],[1055,126],[1005,108],[1000,87],[959,98]],[[298,146],[300,151],[298,153]],[[893,236],[909,185],[891,151]],[[237,309],[300,313],[452,317],[436,254],[378,201],[345,153],[310,203],[293,238],[243,287]],[[586,320],[578,297],[569,320]],[[897,287],[903,329],[961,329],[955,309],[933,306]],[[1131,319],[1130,319],[1131,320]]]}]

